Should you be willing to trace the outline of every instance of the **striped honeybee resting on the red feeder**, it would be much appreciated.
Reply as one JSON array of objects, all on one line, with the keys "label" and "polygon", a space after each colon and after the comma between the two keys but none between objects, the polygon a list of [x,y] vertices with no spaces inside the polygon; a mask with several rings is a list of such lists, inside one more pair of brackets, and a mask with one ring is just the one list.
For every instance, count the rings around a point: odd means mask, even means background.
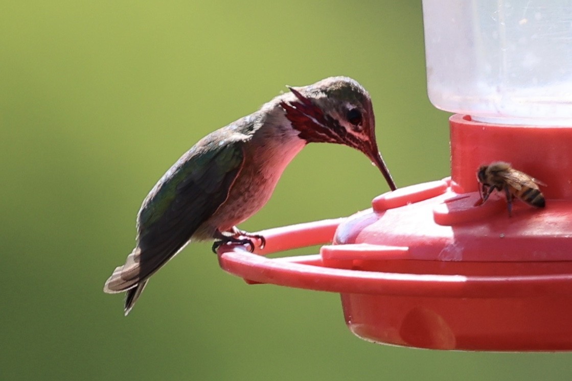
[{"label": "striped honeybee resting on the red feeder", "polygon": [[488,166],[481,166],[476,173],[480,183],[480,202],[482,205],[488,199],[491,192],[505,191],[509,216],[513,210],[513,198],[519,198],[527,204],[542,208],[546,204],[544,195],[538,189],[538,185],[546,186],[526,173],[515,170],[506,162],[494,162]]}]

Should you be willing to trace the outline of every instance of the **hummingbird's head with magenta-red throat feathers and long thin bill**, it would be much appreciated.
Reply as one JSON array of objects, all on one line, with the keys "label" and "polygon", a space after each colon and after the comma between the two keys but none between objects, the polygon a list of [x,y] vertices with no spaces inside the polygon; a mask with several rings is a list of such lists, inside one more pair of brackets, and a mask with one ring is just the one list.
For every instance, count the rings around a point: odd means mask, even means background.
[{"label": "hummingbird's head with magenta-red throat feathers and long thin bill", "polygon": [[370,94],[348,77],[331,77],[303,87],[288,86],[295,97],[280,102],[292,128],[308,143],[337,143],[362,151],[397,189],[375,140]]}]

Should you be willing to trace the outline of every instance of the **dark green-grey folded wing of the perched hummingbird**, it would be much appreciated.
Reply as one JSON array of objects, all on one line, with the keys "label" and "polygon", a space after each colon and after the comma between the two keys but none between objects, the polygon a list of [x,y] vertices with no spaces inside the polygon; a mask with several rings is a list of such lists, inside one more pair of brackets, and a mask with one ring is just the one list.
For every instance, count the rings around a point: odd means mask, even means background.
[{"label": "dark green-grey folded wing of the perched hummingbird", "polygon": [[221,141],[216,133],[185,153],[143,202],[137,247],[113,271],[104,291],[121,292],[139,285],[134,289],[138,296],[146,279],[173,258],[225,202],[243,161],[242,142]]}]

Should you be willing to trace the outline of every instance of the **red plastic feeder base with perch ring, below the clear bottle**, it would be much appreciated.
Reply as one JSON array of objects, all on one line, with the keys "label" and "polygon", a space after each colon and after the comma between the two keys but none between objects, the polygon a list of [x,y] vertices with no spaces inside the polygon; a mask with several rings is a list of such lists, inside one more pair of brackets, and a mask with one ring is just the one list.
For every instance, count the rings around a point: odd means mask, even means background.
[{"label": "red plastic feeder base with perch ring, below the clear bottle", "polygon": [[[572,350],[572,128],[454,115],[452,176],[388,192],[345,219],[260,232],[265,250],[221,246],[249,283],[339,292],[360,338],[442,350]],[[476,169],[506,161],[547,184],[546,208],[503,194],[482,206]],[[319,255],[269,254],[329,243]]]}]

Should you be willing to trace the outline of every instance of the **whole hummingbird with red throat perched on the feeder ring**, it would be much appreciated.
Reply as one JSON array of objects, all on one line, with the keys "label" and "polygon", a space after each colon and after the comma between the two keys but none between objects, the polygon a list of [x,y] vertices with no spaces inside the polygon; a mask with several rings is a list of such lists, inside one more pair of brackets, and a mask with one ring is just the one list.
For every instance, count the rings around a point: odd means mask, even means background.
[{"label": "whole hummingbird with red throat perched on the feeder ring", "polygon": [[105,282],[126,292],[125,315],[150,276],[189,242],[264,247],[263,236],[237,225],[269,200],[285,167],[308,143],[337,143],[362,151],[396,186],[379,153],[370,95],[357,81],[330,77],[288,86],[258,111],[202,138],[161,177],[137,214],[136,246]]}]

